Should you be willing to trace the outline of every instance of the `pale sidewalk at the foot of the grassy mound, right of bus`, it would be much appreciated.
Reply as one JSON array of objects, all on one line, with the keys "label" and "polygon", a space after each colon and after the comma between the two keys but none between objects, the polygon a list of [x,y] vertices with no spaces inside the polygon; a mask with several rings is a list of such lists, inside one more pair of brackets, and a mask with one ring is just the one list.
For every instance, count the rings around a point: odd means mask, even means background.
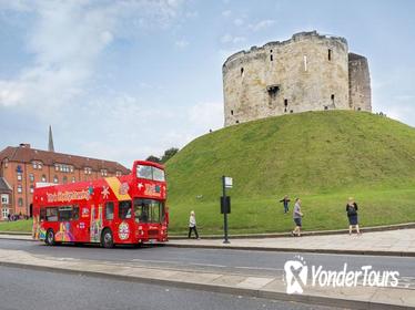
[{"label": "pale sidewalk at the foot of the grassy mound, right of bus", "polygon": [[222,239],[203,239],[202,236],[201,240],[170,240],[168,246],[415,257],[415,229],[363,232],[361,236],[343,234],[262,239],[231,237],[230,241],[231,244],[225,245]]}]

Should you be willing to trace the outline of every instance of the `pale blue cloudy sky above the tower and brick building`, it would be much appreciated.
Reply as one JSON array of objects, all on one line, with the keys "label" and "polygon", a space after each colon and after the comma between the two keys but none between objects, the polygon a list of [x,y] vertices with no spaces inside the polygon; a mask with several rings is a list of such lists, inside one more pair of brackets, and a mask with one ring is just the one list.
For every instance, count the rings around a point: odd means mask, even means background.
[{"label": "pale blue cloudy sky above the tower and brick building", "polygon": [[0,149],[117,161],[223,126],[222,64],[301,31],[365,55],[373,112],[415,126],[415,1],[0,0]]}]

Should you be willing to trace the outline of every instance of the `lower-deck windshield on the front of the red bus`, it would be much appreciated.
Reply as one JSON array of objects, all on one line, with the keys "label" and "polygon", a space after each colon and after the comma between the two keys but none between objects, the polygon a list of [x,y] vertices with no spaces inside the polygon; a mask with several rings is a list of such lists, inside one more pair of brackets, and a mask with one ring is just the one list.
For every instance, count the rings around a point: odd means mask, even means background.
[{"label": "lower-deck windshield on the front of the red bus", "polygon": [[164,219],[164,204],[154,199],[134,199],[136,223],[161,223]]}]

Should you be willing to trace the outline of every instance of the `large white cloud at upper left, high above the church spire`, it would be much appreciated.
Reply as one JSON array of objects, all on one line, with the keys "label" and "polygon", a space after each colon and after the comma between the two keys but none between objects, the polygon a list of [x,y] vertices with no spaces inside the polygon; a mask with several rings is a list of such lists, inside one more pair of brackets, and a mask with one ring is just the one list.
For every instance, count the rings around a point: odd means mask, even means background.
[{"label": "large white cloud at upper left, high above the church spire", "polygon": [[[10,2],[10,3],[9,3]],[[136,27],[165,28],[183,1],[8,1],[0,11],[24,11],[33,18],[27,33],[30,65],[13,80],[0,80],[0,105],[27,106],[52,114],[88,89],[95,63],[115,35]],[[188,42],[180,41],[179,46]],[[42,106],[43,108],[39,108]],[[37,107],[37,108],[33,108]]]}]

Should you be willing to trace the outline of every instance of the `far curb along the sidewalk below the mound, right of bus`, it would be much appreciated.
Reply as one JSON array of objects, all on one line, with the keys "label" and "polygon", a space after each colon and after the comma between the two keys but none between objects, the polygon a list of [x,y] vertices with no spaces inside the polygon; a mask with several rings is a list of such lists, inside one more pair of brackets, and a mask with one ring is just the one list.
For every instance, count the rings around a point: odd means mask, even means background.
[{"label": "far curb along the sidewalk below the mound, right of bus", "polygon": [[270,248],[270,247],[242,247],[242,246],[239,247],[239,246],[176,245],[176,244],[162,244],[160,246],[172,247],[172,248],[202,248],[202,249],[204,248],[204,249],[231,249],[231,250],[275,251],[275,252],[415,257],[415,252],[413,251],[332,250],[332,249]]}]

